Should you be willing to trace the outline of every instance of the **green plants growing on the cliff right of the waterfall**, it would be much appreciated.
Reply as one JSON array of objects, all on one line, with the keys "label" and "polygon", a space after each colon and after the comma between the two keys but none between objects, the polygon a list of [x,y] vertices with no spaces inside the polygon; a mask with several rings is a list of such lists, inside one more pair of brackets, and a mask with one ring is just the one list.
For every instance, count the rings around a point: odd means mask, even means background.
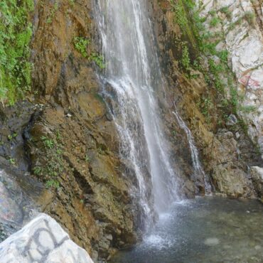
[{"label": "green plants growing on the cliff right of the waterfall", "polygon": [[[237,110],[252,112],[252,107],[239,109],[240,97],[237,95],[237,89],[234,85],[235,77],[228,66],[228,52],[227,50],[216,49],[218,43],[224,39],[224,32],[210,32],[208,28],[205,28],[204,24],[205,21],[208,21],[211,28],[218,26],[221,23],[217,14],[218,11],[225,14],[227,19],[230,19],[232,14],[228,7],[224,6],[217,11],[212,10],[208,13],[208,16],[200,17],[199,12],[203,9],[203,6],[200,6],[200,9],[198,9],[193,0],[170,0],[170,3],[174,13],[174,23],[180,26],[183,34],[181,39],[176,40],[176,44],[178,45],[181,69],[186,73],[186,77],[195,77],[190,72],[192,69],[198,70],[203,73],[205,82],[212,89],[211,92],[214,92],[213,87],[215,87],[216,96],[213,97],[215,101],[218,101],[222,120],[231,113],[237,114]],[[231,30],[244,20],[253,24],[254,14],[245,12],[237,21],[231,23],[228,29]],[[205,68],[203,65],[208,65],[208,67]],[[226,98],[226,87],[230,92],[229,98]],[[209,94],[210,92],[205,95],[205,98],[202,97],[197,102],[200,112],[208,121],[210,120],[210,114],[213,114],[212,105],[215,103],[212,102],[212,97]],[[245,129],[244,123],[240,124],[240,126]]]}]

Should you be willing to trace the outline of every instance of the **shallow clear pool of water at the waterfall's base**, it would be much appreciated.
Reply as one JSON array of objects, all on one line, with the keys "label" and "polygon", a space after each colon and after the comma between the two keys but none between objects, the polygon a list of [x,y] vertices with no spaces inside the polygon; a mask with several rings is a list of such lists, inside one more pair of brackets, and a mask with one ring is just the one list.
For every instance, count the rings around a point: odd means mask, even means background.
[{"label": "shallow clear pool of water at the waterfall's base", "polygon": [[263,205],[212,197],[175,203],[140,245],[112,262],[263,262]]}]

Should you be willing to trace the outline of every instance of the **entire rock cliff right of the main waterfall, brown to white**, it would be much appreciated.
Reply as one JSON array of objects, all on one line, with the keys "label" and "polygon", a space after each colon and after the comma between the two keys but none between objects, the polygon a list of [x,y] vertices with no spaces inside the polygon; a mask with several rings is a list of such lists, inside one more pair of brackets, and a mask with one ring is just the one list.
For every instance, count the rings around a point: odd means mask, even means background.
[{"label": "entire rock cliff right of the main waterfall, brown to white", "polygon": [[[156,42],[168,75],[166,101],[171,109],[176,104],[193,132],[215,193],[254,198],[257,194],[249,167],[262,166],[262,6],[257,1],[250,7],[247,3],[245,9],[239,2],[216,3],[208,1],[196,6],[191,1],[151,1]],[[247,9],[251,9],[253,25],[247,23]],[[237,13],[232,17],[233,11]],[[228,21],[230,14],[232,23]],[[235,23],[237,19],[239,22]],[[231,30],[227,30],[226,25],[230,24]],[[240,36],[237,32],[247,34],[240,38],[244,42],[234,40]],[[256,49],[249,48],[252,43]],[[244,62],[242,66],[245,57],[254,64]],[[259,73],[254,91],[240,82],[245,72],[255,74],[254,77]],[[253,102],[249,99],[251,92]],[[168,123],[176,127],[170,117]],[[180,127],[174,127],[182,134]],[[175,138],[176,144],[179,141]],[[196,180],[202,184],[201,178]]]}]

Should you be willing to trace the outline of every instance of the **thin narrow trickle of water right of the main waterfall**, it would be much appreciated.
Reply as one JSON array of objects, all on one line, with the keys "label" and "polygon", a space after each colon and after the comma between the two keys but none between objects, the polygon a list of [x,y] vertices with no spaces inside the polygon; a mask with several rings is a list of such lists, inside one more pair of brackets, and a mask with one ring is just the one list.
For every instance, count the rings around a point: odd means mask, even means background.
[{"label": "thin narrow trickle of water right of the main waterfall", "polygon": [[195,146],[193,135],[190,132],[190,129],[186,126],[186,123],[183,122],[183,119],[178,114],[176,109],[173,111],[173,114],[176,116],[176,120],[177,120],[179,126],[184,130],[184,132],[186,132],[186,136],[187,136],[188,144],[189,144],[189,148],[190,148],[190,153],[191,153],[191,158],[193,161],[194,178],[195,178],[195,180],[198,176],[203,178],[203,182],[205,185],[205,193],[210,194],[211,193],[211,186],[210,186],[210,183],[208,183],[208,178],[205,175],[205,171],[203,170],[203,167],[200,163],[200,159],[198,156],[198,149]]}]

